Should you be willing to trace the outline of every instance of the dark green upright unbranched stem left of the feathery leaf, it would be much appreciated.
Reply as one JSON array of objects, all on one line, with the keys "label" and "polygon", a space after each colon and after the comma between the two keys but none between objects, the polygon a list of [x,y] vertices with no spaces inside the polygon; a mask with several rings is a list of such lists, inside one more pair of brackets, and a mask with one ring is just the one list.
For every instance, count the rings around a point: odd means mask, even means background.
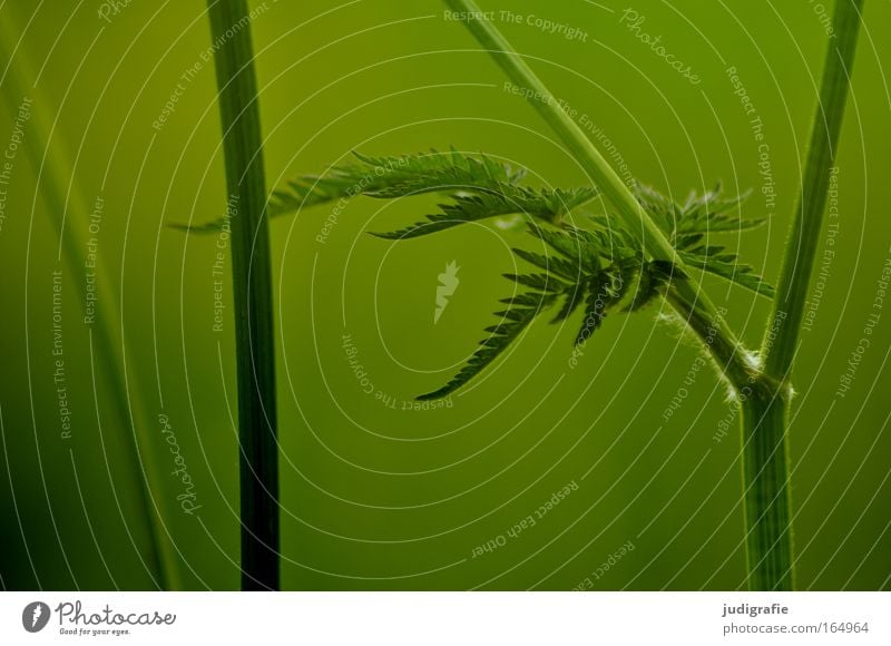
[{"label": "dark green upright unbranched stem left of the feathery leaf", "polygon": [[278,589],[278,450],[266,182],[245,0],[207,0],[232,218],[242,589]]}]

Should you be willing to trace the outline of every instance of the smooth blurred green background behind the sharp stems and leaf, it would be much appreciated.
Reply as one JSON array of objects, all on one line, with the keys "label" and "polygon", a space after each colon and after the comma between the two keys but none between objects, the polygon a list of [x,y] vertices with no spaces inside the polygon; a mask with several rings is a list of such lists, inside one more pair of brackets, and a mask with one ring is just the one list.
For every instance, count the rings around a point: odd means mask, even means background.
[{"label": "smooth blurred green background behind the sharp stems and leaf", "polygon": [[[826,38],[815,3],[636,1],[643,31],[660,35],[691,65],[702,78],[695,86],[620,23],[625,3],[483,4],[523,17],[498,25],[555,95],[615,143],[637,178],[678,199],[718,179],[732,193],[753,188],[744,213],[760,216],[757,145],[725,72],[735,66],[764,124],[776,207],[768,226],[724,242],[775,282]],[[216,238],[167,226],[206,222],[225,208],[212,63],[185,84],[160,131],[153,128],[180,76],[210,46],[205,8],[133,0],[107,22],[100,6],[13,0],[0,8],[3,49],[13,52],[0,60],[0,147],[22,95],[33,99],[0,231],[0,583],[157,587],[140,502],[147,481],[176,554],[169,585],[232,589],[232,310],[224,332],[213,332]],[[529,14],[587,38],[548,33],[527,25]],[[271,187],[323,172],[353,149],[450,145],[525,166],[535,184],[585,183],[434,0],[267,0],[252,28]],[[889,48],[891,4],[866,0],[839,151],[836,254],[796,364],[791,460],[801,588],[889,588],[888,307],[850,392],[835,394],[891,253]],[[110,340],[82,323],[85,267],[66,251],[86,253],[97,196],[105,200],[97,237],[108,286],[98,307]],[[272,224],[283,586],[570,589],[587,577],[594,589],[744,587],[738,431],[715,439],[732,408],[711,370],[684,382],[698,351],[658,322],[658,305],[608,319],[575,369],[568,361],[580,321],[542,321],[451,408],[401,410],[450,378],[493,323],[496,301],[511,288],[500,277],[515,266],[510,247],[533,248],[527,235],[493,226],[398,244],[365,234],[414,222],[434,203],[358,199],[324,243],[316,236],[329,207]],[[451,261],[460,285],[434,324],[437,276]],[[52,379],[56,270],[63,272],[69,439]],[[756,345],[768,303],[719,281],[704,284]],[[227,280],[227,307],[228,290]],[[363,392],[343,334],[395,409]],[[114,376],[121,371],[126,380]],[[679,389],[686,397],[665,420]],[[170,474],[161,413],[194,481],[194,515],[176,499],[183,487]],[[578,489],[533,527],[507,536],[572,481]],[[503,546],[473,557],[499,536]],[[595,578],[628,541],[634,550]]]}]

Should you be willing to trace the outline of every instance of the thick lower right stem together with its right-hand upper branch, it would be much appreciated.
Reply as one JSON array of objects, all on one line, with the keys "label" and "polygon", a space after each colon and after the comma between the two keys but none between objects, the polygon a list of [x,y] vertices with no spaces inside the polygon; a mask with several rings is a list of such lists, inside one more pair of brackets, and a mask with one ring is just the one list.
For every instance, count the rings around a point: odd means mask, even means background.
[{"label": "thick lower right stem together with its right-hand upper branch", "polygon": [[826,49],[804,183],[762,348],[764,373],[758,385],[768,388],[756,389],[742,400],[746,555],[748,587],[753,590],[794,588],[786,433],[790,379],[838,151],[862,4],[863,0],[839,0],[835,4],[835,38],[830,38]]}]

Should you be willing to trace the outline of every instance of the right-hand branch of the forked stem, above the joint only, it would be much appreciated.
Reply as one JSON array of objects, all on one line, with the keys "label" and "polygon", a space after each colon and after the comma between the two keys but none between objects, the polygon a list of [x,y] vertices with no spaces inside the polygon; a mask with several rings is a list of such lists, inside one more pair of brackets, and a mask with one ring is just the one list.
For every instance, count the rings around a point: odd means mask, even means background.
[{"label": "right-hand branch of the forked stem, above the joint only", "polygon": [[791,375],[792,362],[799,348],[801,321],[816,254],[830,175],[838,154],[844,105],[851,81],[863,0],[839,0],[833,16],[835,38],[826,49],[820,104],[814,115],[811,144],[804,167],[795,221],[792,225],[780,285],[774,300],[771,325],[779,324],[773,335],[765,337],[765,371],[777,380]]}]

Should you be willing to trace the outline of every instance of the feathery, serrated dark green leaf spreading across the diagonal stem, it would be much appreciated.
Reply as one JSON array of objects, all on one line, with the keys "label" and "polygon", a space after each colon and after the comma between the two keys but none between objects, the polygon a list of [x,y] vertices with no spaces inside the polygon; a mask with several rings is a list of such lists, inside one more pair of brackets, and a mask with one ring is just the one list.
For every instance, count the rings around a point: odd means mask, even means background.
[{"label": "feathery, serrated dark green leaf spreading across the diagonal stem", "polygon": [[[399,157],[370,157],[354,153],[354,163],[335,166],[323,176],[305,175],[273,193],[270,214],[295,213],[311,205],[360,195],[378,199],[427,193],[444,195],[437,212],[398,231],[372,233],[385,239],[407,241],[448,231],[467,223],[519,215],[536,248],[513,248],[528,267],[505,274],[515,283],[501,298],[498,321],[467,364],[442,388],[419,400],[447,397],[467,384],[505,352],[539,316],[550,323],[579,315],[576,345],[585,343],[611,312],[637,312],[665,297],[674,282],[687,281],[679,263],[647,257],[634,233],[607,215],[581,209],[599,195],[594,187],[533,188],[523,184],[526,170],[489,155],[431,150]],[[634,187],[637,202],[652,214],[686,267],[718,275],[764,296],[774,290],[735,254],[711,244],[719,233],[757,227],[765,218],[740,217],[740,198],[721,197],[721,188],[692,194],[676,204],[653,188]]]}]

